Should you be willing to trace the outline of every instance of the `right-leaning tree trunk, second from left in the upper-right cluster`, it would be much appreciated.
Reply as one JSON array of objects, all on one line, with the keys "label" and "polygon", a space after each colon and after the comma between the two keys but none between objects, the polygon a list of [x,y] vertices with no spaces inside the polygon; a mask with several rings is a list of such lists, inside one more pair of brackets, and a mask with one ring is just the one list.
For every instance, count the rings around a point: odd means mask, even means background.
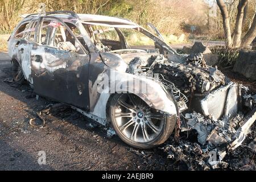
[{"label": "right-leaning tree trunk, second from left in the upper-right cluster", "polygon": [[243,23],[243,12],[248,0],[240,0],[237,6],[237,20],[236,27],[234,29],[233,35],[233,47],[238,48],[241,45],[241,35],[242,35],[242,23]]}]

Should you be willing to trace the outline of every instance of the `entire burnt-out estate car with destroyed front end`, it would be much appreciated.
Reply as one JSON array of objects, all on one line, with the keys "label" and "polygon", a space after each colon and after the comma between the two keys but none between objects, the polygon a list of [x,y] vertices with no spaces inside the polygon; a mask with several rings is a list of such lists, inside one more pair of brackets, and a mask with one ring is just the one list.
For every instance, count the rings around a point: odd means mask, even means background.
[{"label": "entire burnt-out estate car with destroyed front end", "polygon": [[23,18],[9,39],[14,81],[113,127],[130,146],[196,130],[201,145],[233,150],[255,121],[254,94],[203,55],[177,53],[152,24],[71,11]]}]

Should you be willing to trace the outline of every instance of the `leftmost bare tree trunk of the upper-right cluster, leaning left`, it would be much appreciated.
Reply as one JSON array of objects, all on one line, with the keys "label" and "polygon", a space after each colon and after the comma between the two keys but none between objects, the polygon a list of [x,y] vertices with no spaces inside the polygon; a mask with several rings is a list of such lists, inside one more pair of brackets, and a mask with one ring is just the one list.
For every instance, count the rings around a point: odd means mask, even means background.
[{"label": "leftmost bare tree trunk of the upper-right cluster, leaning left", "polygon": [[232,48],[232,37],[231,37],[231,30],[230,30],[230,24],[229,24],[229,13],[228,9],[226,8],[226,5],[223,0],[216,0],[218,7],[220,7],[221,15],[223,19],[223,28],[225,33],[225,39],[226,39],[226,47]]}]

